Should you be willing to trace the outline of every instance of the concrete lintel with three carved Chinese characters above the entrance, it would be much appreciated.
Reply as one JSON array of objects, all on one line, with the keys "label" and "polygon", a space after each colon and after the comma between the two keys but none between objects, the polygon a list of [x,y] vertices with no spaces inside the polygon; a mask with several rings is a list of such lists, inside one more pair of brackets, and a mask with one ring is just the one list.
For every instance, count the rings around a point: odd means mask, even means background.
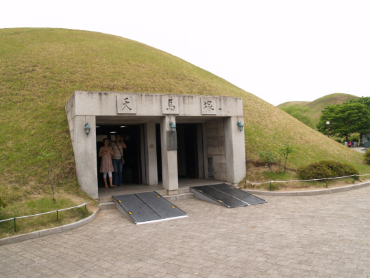
[{"label": "concrete lintel with three carved Chinese characters above the entrance", "polygon": [[[159,93],[86,92],[75,91],[73,95],[75,115],[95,116],[243,116],[243,100],[240,97],[204,97],[202,95],[167,95]],[[127,106],[122,104],[129,101]],[[177,100],[176,111],[166,110],[169,97]],[[210,110],[204,109],[205,100],[212,100]],[[68,104],[68,103],[67,103]],[[66,104],[66,105],[67,105]],[[118,107],[119,106],[119,107]],[[124,108],[123,108],[124,107]],[[128,108],[132,110],[129,110]],[[241,113],[241,115],[240,115]]]}]

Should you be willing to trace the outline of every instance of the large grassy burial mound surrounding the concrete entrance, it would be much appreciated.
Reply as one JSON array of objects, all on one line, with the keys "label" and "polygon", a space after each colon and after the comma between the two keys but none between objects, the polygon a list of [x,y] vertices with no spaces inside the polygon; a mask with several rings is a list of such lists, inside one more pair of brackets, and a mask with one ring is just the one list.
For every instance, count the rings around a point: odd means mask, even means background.
[{"label": "large grassy burial mound surrounding the concrete entrance", "polygon": [[[293,145],[289,167],[321,159],[367,171],[362,154],[195,65],[133,40],[79,30],[0,30],[0,195],[8,203],[49,194],[42,151],[54,151],[56,192],[73,196],[75,163],[64,104],[75,90],[243,97],[247,159]],[[63,195],[63,196],[64,196]]]}]

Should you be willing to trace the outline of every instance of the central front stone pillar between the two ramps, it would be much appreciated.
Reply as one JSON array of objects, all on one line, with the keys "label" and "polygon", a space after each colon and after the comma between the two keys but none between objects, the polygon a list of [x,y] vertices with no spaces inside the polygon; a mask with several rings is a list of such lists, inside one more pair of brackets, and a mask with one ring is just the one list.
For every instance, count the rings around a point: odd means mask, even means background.
[{"label": "central front stone pillar between the two ramps", "polygon": [[169,194],[177,194],[179,180],[177,176],[177,150],[167,150],[167,131],[171,130],[169,123],[175,122],[175,116],[162,117],[160,121],[160,146],[162,148],[162,180],[163,189]]}]

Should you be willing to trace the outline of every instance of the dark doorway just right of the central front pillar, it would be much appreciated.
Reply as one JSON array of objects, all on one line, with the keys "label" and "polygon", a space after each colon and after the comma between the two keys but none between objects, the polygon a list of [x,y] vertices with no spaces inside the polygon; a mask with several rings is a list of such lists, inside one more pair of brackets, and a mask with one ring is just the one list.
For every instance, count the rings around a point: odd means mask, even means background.
[{"label": "dark doorway just right of the central front pillar", "polygon": [[177,172],[180,177],[199,178],[197,124],[177,124]]}]

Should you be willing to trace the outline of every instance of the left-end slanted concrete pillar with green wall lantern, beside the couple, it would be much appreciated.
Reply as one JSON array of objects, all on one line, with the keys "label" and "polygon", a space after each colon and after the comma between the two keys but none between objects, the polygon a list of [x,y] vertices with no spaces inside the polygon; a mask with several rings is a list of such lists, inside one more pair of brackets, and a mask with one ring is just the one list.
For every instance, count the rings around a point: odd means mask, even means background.
[{"label": "left-end slanted concrete pillar with green wall lantern, beside the couple", "polygon": [[[83,192],[97,199],[97,135],[95,116],[75,116],[73,121],[77,181]],[[84,128],[86,122],[91,127],[88,136],[86,136]]]}]

